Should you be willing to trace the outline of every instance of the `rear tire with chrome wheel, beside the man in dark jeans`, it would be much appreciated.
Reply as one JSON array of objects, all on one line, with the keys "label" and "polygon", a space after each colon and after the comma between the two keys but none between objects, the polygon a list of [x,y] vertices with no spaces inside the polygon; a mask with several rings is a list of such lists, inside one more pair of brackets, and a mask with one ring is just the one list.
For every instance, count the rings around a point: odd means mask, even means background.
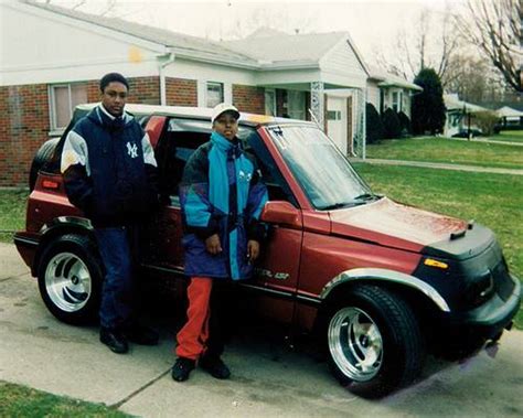
[{"label": "rear tire with chrome wheel, beside the man in dark jeans", "polygon": [[83,235],[63,235],[47,244],[38,269],[40,294],[58,320],[74,324],[96,320],[103,268],[93,242]]}]

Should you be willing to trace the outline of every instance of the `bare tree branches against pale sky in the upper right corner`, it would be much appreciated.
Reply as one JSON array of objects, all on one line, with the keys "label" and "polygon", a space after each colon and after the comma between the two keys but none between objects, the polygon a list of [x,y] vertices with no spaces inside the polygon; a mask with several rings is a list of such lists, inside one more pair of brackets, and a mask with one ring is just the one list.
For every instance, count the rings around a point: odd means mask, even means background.
[{"label": "bare tree branches against pale sky in the upper right corner", "polygon": [[520,0],[468,0],[467,13],[458,17],[465,37],[476,45],[516,92],[521,83]]}]

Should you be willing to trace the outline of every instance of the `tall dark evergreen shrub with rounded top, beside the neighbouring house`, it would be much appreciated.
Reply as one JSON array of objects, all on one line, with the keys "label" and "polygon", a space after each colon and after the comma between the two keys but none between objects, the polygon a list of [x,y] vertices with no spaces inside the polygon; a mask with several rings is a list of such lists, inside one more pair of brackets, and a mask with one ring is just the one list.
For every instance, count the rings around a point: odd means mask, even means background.
[{"label": "tall dark evergreen shrub with rounded top, beside the neighbouring house", "polygon": [[423,68],[414,83],[423,87],[423,92],[413,97],[414,133],[442,132],[445,103],[441,81],[433,68]]}]

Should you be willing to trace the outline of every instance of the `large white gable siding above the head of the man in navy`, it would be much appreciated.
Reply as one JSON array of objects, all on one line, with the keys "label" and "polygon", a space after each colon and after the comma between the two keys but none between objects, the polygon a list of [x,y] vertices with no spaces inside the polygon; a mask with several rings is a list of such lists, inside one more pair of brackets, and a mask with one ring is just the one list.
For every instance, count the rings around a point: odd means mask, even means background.
[{"label": "large white gable siding above the head of the man in navy", "polygon": [[26,4],[0,3],[0,85],[96,79],[110,71],[128,77],[158,75],[158,51],[107,31],[32,11]]}]

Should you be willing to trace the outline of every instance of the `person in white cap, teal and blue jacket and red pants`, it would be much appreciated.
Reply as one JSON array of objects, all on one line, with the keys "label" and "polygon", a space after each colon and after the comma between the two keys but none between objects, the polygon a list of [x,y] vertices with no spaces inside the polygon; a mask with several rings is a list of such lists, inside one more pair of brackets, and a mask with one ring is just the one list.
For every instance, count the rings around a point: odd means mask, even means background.
[{"label": "person in white cap, teal and blue jacket and red pants", "polygon": [[[221,310],[227,281],[249,278],[259,255],[264,228],[258,219],[267,189],[252,156],[236,138],[238,110],[226,104],[213,110],[211,140],[189,159],[180,187],[185,234],[188,321],[178,333],[172,378],[183,382],[199,365],[215,378],[231,372],[221,360],[224,349]],[[231,301],[234,303],[234,300]]]}]

